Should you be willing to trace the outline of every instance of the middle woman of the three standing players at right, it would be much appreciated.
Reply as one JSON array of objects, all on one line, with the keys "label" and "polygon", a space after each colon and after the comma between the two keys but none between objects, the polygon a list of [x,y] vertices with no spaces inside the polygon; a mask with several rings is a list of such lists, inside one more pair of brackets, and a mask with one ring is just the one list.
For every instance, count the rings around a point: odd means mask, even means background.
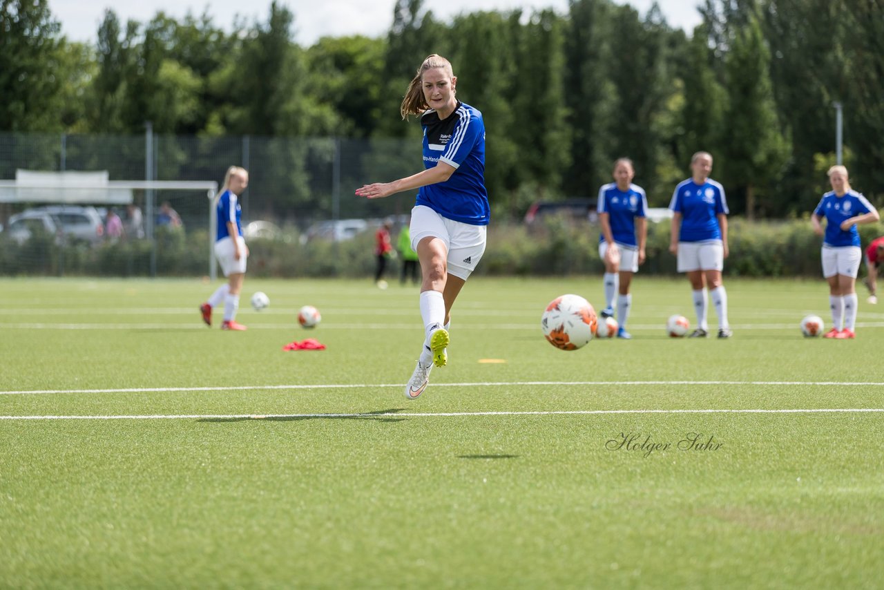
[{"label": "middle woman of the three standing players at right", "polygon": [[713,157],[698,151],[690,158],[691,177],[675,187],[669,209],[674,211],[669,251],[678,258],[678,272],[686,272],[693,291],[697,329],[690,338],[705,338],[708,297],[718,312],[719,338],[734,333],[728,323],[728,293],[721,282],[728,257],[728,201],[724,188],[709,178]]}]

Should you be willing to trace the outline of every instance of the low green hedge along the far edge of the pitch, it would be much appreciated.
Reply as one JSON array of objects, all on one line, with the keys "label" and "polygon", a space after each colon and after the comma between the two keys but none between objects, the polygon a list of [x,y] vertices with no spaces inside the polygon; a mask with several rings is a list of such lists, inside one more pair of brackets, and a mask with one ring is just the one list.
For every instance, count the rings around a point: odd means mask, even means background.
[{"label": "low green hedge along the far edge of the pitch", "polygon": [[[648,224],[647,260],[643,274],[674,274],[675,257],[668,251],[669,224]],[[813,234],[808,218],[789,221],[729,222],[730,276],[819,276],[821,238]],[[884,229],[860,227],[863,244]],[[0,275],[149,276],[148,241],[121,241],[98,247],[58,245],[52,236],[34,236],[24,244],[3,240],[0,234]],[[249,242],[248,273],[253,277],[350,277],[374,272],[374,236],[365,233],[342,242],[310,241],[301,245],[297,234],[281,240]],[[160,228],[157,233],[156,273],[160,276],[200,276],[208,269],[208,234]],[[398,272],[391,264],[390,273]],[[584,275],[602,272],[598,258],[598,226],[552,218],[540,227],[494,225],[488,230],[488,249],[477,274]]]}]

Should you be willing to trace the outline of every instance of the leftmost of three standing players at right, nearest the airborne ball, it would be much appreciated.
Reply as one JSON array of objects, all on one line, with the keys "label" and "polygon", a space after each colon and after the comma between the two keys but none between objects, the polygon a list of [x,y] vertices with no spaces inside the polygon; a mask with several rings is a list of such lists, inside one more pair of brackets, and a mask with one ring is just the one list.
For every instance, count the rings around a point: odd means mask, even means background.
[{"label": "leftmost of three standing players at right, nearest the airborne ball", "polygon": [[[617,294],[617,337],[629,339],[626,320],[632,307],[629,285],[638,265],[644,263],[647,240],[648,200],[644,188],[632,184],[636,175],[632,160],[621,157],[613,163],[616,182],[598,189],[598,256],[605,263],[605,318],[613,316],[613,297]],[[637,237],[636,237],[637,236]]]}]

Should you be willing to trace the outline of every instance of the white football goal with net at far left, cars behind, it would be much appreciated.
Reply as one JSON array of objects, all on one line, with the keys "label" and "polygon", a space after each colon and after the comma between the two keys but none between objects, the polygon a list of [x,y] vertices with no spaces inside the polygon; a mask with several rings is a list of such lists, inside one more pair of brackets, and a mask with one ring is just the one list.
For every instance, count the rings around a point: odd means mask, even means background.
[{"label": "white football goal with net at far left, cars behind", "polygon": [[0,276],[217,277],[216,181],[18,171],[0,180]]}]

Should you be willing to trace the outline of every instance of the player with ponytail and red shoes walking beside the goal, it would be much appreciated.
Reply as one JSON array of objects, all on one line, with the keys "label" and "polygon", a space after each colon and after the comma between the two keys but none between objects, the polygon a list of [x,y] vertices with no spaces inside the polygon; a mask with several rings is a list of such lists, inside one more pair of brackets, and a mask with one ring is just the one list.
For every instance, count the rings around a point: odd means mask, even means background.
[{"label": "player with ponytail and red shoes walking beside the goal", "polygon": [[245,330],[246,326],[237,323],[236,310],[240,309],[240,291],[246,277],[248,247],[242,237],[242,207],[239,195],[248,187],[248,172],[245,168],[231,166],[225,174],[224,186],[217,195],[217,238],[215,257],[227,277],[227,283],[218,287],[209,301],[200,306],[202,321],[212,325],[212,308],[224,303],[222,330]]}]

